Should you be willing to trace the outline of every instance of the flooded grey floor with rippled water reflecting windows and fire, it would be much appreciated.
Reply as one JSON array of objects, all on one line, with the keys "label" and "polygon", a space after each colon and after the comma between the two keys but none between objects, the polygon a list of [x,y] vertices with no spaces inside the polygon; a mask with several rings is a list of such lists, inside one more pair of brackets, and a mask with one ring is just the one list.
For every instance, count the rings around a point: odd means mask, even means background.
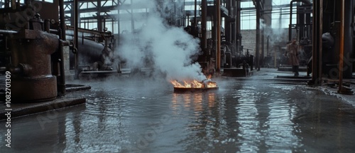
[{"label": "flooded grey floor with rippled water reflecting windows and fire", "polygon": [[[91,82],[85,105],[14,118],[0,152],[355,152],[355,109],[305,85],[217,80]],[[0,125],[5,125],[4,121]]]}]

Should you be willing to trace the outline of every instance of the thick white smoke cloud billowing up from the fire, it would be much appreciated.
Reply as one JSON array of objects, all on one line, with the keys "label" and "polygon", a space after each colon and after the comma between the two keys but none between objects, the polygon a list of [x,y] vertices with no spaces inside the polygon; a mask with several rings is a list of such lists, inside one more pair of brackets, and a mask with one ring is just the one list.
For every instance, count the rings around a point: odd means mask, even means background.
[{"label": "thick white smoke cloud billowing up from the fire", "polygon": [[[119,58],[130,68],[153,68],[155,72],[163,73],[167,80],[205,79],[200,64],[192,63],[193,57],[200,53],[199,40],[183,28],[169,26],[165,16],[156,11],[155,1],[133,2],[132,5],[144,3],[152,9],[141,28],[133,35],[122,36],[116,49]],[[168,3],[163,5],[165,10],[171,6]]]}]

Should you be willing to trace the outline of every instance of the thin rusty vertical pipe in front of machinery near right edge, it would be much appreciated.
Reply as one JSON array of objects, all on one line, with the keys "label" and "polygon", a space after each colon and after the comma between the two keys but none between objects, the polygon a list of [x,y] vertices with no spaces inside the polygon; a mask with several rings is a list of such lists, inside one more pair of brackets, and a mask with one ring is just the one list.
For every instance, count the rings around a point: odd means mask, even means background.
[{"label": "thin rusty vertical pipe in front of machinery near right edge", "polygon": [[343,65],[344,65],[344,2],[342,0],[342,6],[340,7],[340,42],[339,42],[339,90],[338,93],[342,91],[343,86]]}]

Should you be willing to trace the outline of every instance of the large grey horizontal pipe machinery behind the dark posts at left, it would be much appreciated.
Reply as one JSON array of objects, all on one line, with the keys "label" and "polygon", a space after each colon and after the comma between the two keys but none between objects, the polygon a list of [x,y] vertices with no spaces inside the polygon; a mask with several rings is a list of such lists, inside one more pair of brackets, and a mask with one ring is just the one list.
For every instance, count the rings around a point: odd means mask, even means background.
[{"label": "large grey horizontal pipe machinery behind the dark posts at left", "polygon": [[[66,39],[74,43],[74,27],[66,26]],[[78,58],[79,72],[113,70],[115,38],[110,31],[96,31],[78,28]],[[75,68],[75,55],[70,54],[70,68]]]}]

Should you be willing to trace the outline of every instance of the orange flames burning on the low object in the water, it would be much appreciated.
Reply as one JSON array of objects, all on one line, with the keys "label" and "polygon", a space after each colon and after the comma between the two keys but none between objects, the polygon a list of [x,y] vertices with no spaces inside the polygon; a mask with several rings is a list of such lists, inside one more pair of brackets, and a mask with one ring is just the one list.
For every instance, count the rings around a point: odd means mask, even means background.
[{"label": "orange flames burning on the low object in the water", "polygon": [[177,80],[170,80],[170,83],[174,85],[174,88],[216,88],[217,83],[212,82],[210,80],[208,81],[197,81],[197,80],[192,80],[192,81],[185,81],[182,85],[182,83],[179,83]]}]

